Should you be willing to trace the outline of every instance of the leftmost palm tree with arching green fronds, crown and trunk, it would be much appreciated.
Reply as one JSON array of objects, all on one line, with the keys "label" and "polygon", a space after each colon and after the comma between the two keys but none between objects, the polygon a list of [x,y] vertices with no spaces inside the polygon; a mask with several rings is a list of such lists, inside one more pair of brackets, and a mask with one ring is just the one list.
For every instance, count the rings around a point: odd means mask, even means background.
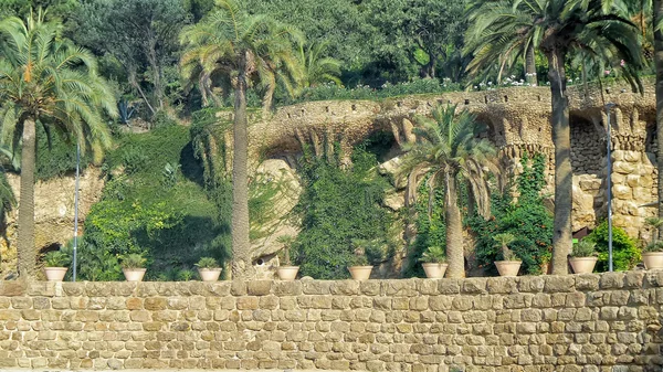
[{"label": "leftmost palm tree with arching green fronds, crown and trunk", "polygon": [[91,149],[101,160],[110,146],[103,111],[116,115],[115,95],[96,73],[94,56],[59,35],[44,13],[25,22],[0,22],[0,118],[2,139],[21,148],[19,200],[19,275],[34,274],[34,169],[36,126],[57,131]]}]

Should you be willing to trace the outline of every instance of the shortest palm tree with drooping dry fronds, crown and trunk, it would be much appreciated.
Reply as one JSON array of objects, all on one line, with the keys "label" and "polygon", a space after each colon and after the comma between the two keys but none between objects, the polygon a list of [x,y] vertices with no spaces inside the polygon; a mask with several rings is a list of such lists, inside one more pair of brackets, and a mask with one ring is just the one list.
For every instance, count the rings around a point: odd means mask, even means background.
[{"label": "shortest palm tree with drooping dry fronds, crown and trunk", "polygon": [[476,138],[481,127],[467,110],[456,115],[456,106],[438,106],[432,116],[432,120],[417,117],[418,126],[413,130],[418,139],[404,146],[408,152],[398,173],[408,174],[408,204],[415,201],[415,191],[423,180],[430,189],[443,187],[448,275],[461,278],[465,276],[465,268],[459,176],[469,182],[478,210],[485,211],[488,198],[484,168],[495,155],[495,148],[488,140]]}]

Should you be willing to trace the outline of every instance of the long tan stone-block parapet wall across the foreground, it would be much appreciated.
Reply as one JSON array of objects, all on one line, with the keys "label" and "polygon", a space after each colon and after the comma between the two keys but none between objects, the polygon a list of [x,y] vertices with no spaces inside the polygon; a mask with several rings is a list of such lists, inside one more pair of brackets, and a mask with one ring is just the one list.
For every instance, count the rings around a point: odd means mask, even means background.
[{"label": "long tan stone-block parapet wall across the foreground", "polygon": [[662,371],[663,272],[0,281],[0,370]]}]

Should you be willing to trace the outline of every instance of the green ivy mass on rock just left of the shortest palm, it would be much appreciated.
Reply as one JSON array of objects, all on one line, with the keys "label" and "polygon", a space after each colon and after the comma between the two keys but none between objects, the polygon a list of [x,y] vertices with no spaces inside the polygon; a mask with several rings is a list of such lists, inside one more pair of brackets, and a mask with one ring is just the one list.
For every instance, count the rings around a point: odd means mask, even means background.
[{"label": "green ivy mass on rock just left of the shortest palm", "polygon": [[[352,241],[389,245],[386,236],[392,219],[380,205],[388,182],[377,173],[375,156],[361,148],[355,150],[352,166],[345,170],[305,153],[304,192],[296,209],[303,230],[296,240],[295,262],[305,276],[347,278],[347,266],[358,259],[368,262],[368,253],[378,251],[362,246],[364,252],[355,255]],[[380,255],[372,257],[380,259]]]}]

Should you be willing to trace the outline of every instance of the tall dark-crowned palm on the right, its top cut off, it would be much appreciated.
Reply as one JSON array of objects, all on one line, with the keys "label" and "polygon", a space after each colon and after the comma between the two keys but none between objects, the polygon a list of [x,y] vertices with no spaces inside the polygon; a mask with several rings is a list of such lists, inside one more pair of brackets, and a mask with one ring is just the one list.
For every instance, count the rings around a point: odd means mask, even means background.
[{"label": "tall dark-crowned palm on the right, its top cut off", "polygon": [[576,51],[603,61],[618,57],[625,61],[627,75],[635,77],[642,64],[639,32],[627,17],[613,11],[624,9],[622,6],[622,0],[508,0],[485,2],[471,14],[474,25],[470,28],[469,39],[474,61],[470,68],[476,71],[491,65],[529,44],[548,60],[555,144],[552,274],[568,273],[567,255],[572,242],[572,172],[565,62]]}]

